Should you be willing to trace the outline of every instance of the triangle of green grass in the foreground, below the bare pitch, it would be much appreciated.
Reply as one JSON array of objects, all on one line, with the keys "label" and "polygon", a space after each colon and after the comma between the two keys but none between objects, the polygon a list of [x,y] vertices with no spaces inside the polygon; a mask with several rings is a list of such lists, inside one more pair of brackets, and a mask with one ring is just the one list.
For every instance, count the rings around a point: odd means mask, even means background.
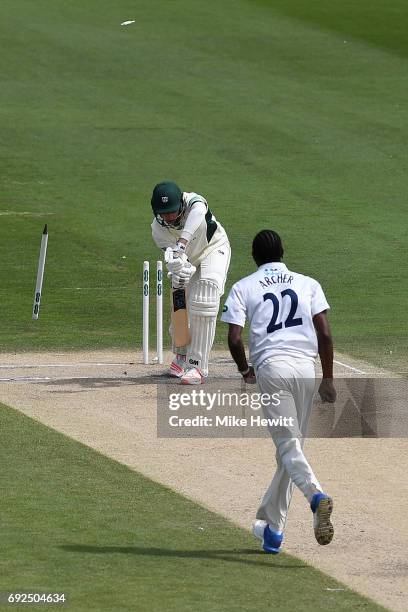
[{"label": "triangle of green grass in the foreground, below the bare pitch", "polygon": [[4,405],[0,428],[2,594],[64,592],[75,612],[384,609]]}]

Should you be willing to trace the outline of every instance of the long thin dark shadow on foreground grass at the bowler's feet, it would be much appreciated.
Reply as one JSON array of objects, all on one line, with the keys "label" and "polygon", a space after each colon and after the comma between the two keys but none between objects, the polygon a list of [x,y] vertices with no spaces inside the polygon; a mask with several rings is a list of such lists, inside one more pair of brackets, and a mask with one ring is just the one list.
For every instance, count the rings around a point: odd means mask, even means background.
[{"label": "long thin dark shadow on foreground grass at the bowler's feet", "polygon": [[[290,557],[286,555],[266,555],[262,550],[255,548],[242,549],[211,549],[211,550],[174,550],[171,548],[154,548],[142,546],[87,546],[84,544],[63,544],[59,546],[65,552],[74,553],[89,553],[94,555],[100,554],[125,554],[125,555],[140,555],[146,557],[179,557],[182,559],[213,559],[219,561],[228,561],[232,563],[244,563],[249,565],[257,565],[260,567],[269,567],[265,561],[271,559],[274,561],[273,566],[282,569],[308,569],[309,566],[299,559],[290,561]],[[252,559],[241,559],[240,555],[256,555],[262,556],[264,561]]]}]

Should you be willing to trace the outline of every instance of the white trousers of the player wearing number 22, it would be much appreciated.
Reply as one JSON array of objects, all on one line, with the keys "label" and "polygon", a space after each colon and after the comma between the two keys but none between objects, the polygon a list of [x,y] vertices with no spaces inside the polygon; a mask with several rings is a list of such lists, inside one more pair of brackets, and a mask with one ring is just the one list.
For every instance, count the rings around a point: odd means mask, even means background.
[{"label": "white trousers of the player wearing number 22", "polygon": [[[256,514],[275,531],[286,526],[288,509],[297,485],[308,501],[322,488],[303,454],[315,389],[315,366],[309,360],[271,358],[257,371],[261,393],[280,393],[280,404],[264,406],[266,418],[292,417],[294,427],[289,430],[269,427],[276,446],[277,469]],[[276,397],[276,396],[275,396]]]}]

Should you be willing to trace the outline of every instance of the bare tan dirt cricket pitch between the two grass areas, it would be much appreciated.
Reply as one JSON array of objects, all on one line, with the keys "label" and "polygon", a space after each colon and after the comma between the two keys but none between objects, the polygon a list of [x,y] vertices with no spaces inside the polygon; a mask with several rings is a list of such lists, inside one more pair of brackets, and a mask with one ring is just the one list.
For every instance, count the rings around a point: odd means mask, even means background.
[{"label": "bare tan dirt cricket pitch between the two grass areas", "polygon": [[[389,375],[336,359],[343,364],[338,375]],[[226,353],[213,362],[217,375],[234,375]],[[0,400],[249,528],[275,469],[272,442],[158,439],[156,383],[165,373],[130,352],[3,354]],[[335,539],[318,546],[310,510],[295,491],[285,551],[390,609],[406,610],[408,440],[309,439],[306,454],[334,497]]]}]

